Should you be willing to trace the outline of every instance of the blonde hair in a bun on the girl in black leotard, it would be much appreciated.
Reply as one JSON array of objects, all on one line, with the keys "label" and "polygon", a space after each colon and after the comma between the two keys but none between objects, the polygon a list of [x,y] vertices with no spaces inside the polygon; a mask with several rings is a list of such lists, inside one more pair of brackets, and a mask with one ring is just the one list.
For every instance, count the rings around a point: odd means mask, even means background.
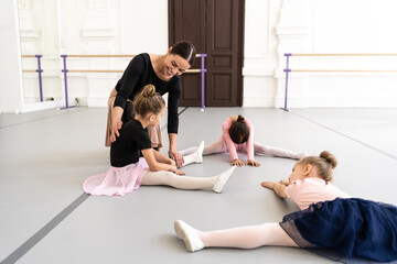
[{"label": "blonde hair in a bun on the girl in black leotard", "polygon": [[165,101],[153,85],[143,87],[132,102],[133,113],[146,117],[148,113],[158,114],[165,107]]}]

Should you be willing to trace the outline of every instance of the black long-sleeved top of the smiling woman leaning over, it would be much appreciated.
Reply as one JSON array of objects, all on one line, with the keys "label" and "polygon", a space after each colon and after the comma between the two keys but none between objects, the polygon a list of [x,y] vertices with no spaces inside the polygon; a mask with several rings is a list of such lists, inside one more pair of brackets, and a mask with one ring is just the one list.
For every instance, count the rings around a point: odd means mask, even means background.
[{"label": "black long-sleeved top of the smiling woman leaning over", "polygon": [[182,87],[179,76],[173,76],[169,81],[160,79],[152,67],[147,53],[135,56],[116,85],[117,97],[114,107],[126,110],[127,99],[133,100],[135,96],[146,85],[153,85],[160,95],[169,92],[168,99],[168,132],[178,133],[178,107]]}]

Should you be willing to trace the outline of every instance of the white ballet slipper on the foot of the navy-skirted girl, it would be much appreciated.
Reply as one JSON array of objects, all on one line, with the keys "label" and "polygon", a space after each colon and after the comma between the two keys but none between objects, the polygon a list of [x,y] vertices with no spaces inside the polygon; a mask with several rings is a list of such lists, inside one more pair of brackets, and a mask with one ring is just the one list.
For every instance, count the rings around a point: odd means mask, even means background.
[{"label": "white ballet slipper on the foot of the navy-skirted girl", "polygon": [[183,240],[187,251],[195,252],[204,249],[198,231],[182,220],[175,220],[174,229],[176,235]]}]

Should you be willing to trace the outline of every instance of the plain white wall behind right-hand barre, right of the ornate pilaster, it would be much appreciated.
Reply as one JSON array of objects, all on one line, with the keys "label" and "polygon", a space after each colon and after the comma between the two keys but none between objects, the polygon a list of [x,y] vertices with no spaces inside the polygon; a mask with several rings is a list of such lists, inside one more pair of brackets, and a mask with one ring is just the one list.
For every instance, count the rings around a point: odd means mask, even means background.
[{"label": "plain white wall behind right-hand barre, right of the ornate pilaster", "polygon": [[[276,26],[276,106],[282,106],[282,53],[397,53],[393,0],[283,1]],[[291,57],[294,69],[397,69],[397,56]],[[291,73],[290,107],[397,107],[396,73]]]}]

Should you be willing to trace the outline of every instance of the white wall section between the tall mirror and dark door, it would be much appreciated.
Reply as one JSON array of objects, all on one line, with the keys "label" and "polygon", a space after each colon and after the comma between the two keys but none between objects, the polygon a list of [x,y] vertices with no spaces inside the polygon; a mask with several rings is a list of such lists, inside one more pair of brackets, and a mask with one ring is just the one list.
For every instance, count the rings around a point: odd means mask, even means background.
[{"label": "white wall section between the tall mirror and dark door", "polygon": [[[63,54],[167,53],[167,1],[72,0],[62,1],[61,10]],[[69,58],[67,62],[71,68],[125,69],[130,59]],[[121,74],[68,74],[69,100],[78,98],[82,105],[104,107],[120,77]]]}]

